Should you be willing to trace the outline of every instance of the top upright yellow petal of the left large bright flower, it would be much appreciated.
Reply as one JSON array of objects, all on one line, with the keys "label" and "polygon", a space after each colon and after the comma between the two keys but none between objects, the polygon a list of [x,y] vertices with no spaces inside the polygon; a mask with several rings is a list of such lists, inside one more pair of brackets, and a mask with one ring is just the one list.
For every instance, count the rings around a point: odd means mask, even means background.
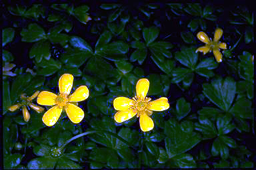
[{"label": "top upright yellow petal of the left large bright flower", "polygon": [[59,78],[59,92],[69,94],[73,86],[74,77],[71,74],[63,74]]}]

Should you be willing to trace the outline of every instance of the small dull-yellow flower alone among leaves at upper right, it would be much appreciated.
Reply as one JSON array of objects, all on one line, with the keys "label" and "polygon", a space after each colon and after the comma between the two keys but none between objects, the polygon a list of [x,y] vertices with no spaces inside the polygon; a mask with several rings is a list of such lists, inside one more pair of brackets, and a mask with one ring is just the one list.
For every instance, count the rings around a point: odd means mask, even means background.
[{"label": "small dull-yellow flower alone among leaves at upper right", "polygon": [[213,54],[217,62],[222,62],[222,54],[219,51],[219,48],[227,49],[227,44],[225,42],[219,42],[219,39],[221,39],[222,35],[223,30],[219,28],[216,29],[214,33],[214,39],[212,41],[203,31],[197,33],[197,39],[199,39],[201,42],[205,42],[205,46],[197,48],[195,52],[199,51],[203,52],[203,54],[206,54],[207,52],[211,52],[211,50],[213,50]]}]

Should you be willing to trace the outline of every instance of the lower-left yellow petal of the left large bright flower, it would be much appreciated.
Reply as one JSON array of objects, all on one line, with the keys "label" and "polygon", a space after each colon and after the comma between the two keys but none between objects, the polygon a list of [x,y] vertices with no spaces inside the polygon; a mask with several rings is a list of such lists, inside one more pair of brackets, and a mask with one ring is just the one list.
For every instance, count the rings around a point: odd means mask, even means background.
[{"label": "lower-left yellow petal of the left large bright flower", "polygon": [[59,116],[61,116],[62,109],[62,107],[53,106],[53,108],[49,109],[43,115],[43,123],[46,126],[53,126],[54,124],[56,124],[57,120],[59,120]]}]

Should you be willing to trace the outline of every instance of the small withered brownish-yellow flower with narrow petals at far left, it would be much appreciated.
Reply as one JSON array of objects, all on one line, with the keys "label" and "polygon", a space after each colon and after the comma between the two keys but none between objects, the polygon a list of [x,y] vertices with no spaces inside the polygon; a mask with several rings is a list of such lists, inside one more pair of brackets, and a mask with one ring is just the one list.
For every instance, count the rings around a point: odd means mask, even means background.
[{"label": "small withered brownish-yellow flower with narrow petals at far left", "polygon": [[17,109],[22,108],[23,119],[24,119],[25,122],[29,122],[30,114],[29,114],[29,111],[27,110],[28,106],[30,108],[32,108],[33,110],[35,110],[37,113],[41,113],[41,112],[43,112],[43,110],[45,110],[41,106],[37,106],[37,105],[32,103],[32,100],[34,98],[36,98],[38,94],[39,94],[39,91],[35,92],[30,97],[27,97],[25,94],[21,94],[21,102],[18,103],[18,104],[15,104],[13,106],[10,106],[8,108],[8,110],[10,110],[11,112],[14,112]]}]

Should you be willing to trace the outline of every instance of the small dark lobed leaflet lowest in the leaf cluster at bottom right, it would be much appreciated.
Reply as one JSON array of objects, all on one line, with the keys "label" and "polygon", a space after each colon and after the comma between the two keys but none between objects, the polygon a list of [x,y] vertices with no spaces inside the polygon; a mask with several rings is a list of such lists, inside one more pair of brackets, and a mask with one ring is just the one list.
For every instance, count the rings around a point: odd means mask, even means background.
[{"label": "small dark lobed leaflet lowest in the leaf cluster at bottom right", "polygon": [[222,159],[227,159],[227,157],[229,157],[229,147],[227,147],[227,145],[225,145],[225,143],[218,137],[213,141],[211,153],[213,156],[221,155]]}]

